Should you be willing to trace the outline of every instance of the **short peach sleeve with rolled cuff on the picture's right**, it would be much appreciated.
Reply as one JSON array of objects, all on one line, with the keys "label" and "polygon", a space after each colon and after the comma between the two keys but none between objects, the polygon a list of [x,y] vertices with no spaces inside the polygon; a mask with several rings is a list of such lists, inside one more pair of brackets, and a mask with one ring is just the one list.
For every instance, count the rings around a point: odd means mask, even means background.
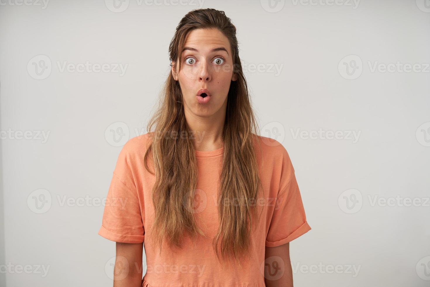
[{"label": "short peach sleeve with rolled cuff on the picture's right", "polygon": [[286,244],[305,234],[311,228],[306,221],[300,190],[295,174],[289,183],[279,191],[266,237],[267,247]]}]

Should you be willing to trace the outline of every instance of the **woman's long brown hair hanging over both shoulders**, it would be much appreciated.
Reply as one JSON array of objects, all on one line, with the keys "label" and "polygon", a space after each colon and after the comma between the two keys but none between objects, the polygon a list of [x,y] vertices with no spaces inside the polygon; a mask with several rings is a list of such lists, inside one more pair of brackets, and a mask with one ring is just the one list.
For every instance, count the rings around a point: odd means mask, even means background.
[{"label": "woman's long brown hair hanging over both shoulders", "polygon": [[[241,266],[239,259],[250,255],[250,234],[252,226],[256,226],[253,220],[258,221],[260,217],[256,218],[258,204],[249,204],[257,201],[261,186],[254,145],[258,143],[260,146],[257,137],[259,129],[239,58],[236,27],[224,11],[197,9],[188,12],[181,19],[170,43],[170,61],[179,63],[177,71],[180,71],[181,51],[187,33],[199,28],[216,28],[228,38],[233,53],[233,73],[238,76],[236,81],[231,81],[227,96],[222,135],[224,153],[218,189],[219,228],[212,247],[218,260],[220,245],[221,257],[231,259],[234,256]],[[205,235],[197,226],[193,213],[198,173],[194,139],[189,136],[190,130],[185,121],[181,88],[172,73],[169,73],[159,107],[151,117],[147,130],[152,141],[145,153],[145,168],[149,171],[146,161],[151,154],[155,174],[152,239],[160,246],[160,251],[164,239],[169,247],[181,247],[184,235],[189,235],[193,240],[198,235]]]}]

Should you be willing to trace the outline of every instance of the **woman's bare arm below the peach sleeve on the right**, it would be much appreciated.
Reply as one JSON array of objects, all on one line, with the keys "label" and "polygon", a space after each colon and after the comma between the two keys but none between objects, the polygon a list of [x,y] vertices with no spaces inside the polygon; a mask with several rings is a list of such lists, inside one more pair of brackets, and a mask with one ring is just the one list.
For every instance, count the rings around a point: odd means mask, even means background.
[{"label": "woman's bare arm below the peach sleeve on the right", "polygon": [[[290,243],[288,242],[276,247],[266,247],[265,252],[264,259],[267,260],[264,263],[264,283],[266,284],[266,287],[293,287]],[[271,256],[275,257],[269,258]],[[283,262],[279,262],[279,260],[282,260]],[[268,266],[266,266],[266,264]],[[277,269],[277,267],[281,266],[285,266],[285,268]],[[278,279],[280,274],[282,274],[282,276]]]}]

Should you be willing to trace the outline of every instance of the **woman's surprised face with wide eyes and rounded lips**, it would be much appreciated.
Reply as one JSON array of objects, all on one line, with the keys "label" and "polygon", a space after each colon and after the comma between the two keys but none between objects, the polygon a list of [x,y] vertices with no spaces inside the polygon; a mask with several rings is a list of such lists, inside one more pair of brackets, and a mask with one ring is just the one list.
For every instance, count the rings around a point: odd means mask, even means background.
[{"label": "woman's surprised face with wide eyes and rounded lips", "polygon": [[[174,67],[175,66],[175,67]],[[212,116],[225,113],[227,94],[233,74],[233,57],[230,43],[218,29],[196,29],[185,38],[181,71],[172,66],[172,75],[179,81],[186,114]],[[207,89],[209,97],[198,97],[200,89]]]}]

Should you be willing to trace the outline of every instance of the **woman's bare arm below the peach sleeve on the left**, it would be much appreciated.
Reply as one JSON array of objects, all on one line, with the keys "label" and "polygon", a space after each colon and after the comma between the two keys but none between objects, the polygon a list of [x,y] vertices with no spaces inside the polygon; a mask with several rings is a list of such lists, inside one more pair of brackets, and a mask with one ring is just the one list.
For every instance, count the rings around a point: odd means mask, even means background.
[{"label": "woman's bare arm below the peach sleeve on the left", "polygon": [[117,242],[114,287],[141,287],[143,243]]}]

